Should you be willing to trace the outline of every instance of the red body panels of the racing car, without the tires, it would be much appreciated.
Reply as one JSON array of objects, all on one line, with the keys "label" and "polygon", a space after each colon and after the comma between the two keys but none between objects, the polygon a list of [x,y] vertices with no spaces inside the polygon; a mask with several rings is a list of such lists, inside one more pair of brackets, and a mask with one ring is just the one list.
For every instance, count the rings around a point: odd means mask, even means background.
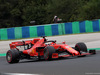
[{"label": "red body panels of the racing car, without the tires", "polygon": [[80,55],[88,55],[90,53],[83,53],[80,54],[79,51],[73,49],[69,45],[65,44],[65,42],[62,42],[62,44],[56,44],[55,42],[50,42],[49,44],[46,44],[46,39],[33,39],[28,41],[18,41],[18,42],[12,42],[10,44],[11,49],[17,49],[17,46],[25,46],[25,45],[33,45],[31,48],[23,50],[23,54],[27,54],[30,56],[43,56],[44,55],[44,48],[46,46],[53,46],[55,50],[59,49],[59,51],[67,51],[68,55],[59,55],[58,53],[53,53],[52,58],[59,58],[59,57],[69,57],[69,56],[80,56]]}]

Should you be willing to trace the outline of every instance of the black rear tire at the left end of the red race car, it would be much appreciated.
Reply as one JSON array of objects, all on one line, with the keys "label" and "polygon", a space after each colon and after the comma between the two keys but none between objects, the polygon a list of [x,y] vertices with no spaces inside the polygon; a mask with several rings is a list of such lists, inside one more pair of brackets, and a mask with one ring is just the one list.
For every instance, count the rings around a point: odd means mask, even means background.
[{"label": "black rear tire at the left end of the red race car", "polygon": [[6,60],[8,63],[18,63],[19,57],[20,54],[18,50],[9,50],[6,53]]}]

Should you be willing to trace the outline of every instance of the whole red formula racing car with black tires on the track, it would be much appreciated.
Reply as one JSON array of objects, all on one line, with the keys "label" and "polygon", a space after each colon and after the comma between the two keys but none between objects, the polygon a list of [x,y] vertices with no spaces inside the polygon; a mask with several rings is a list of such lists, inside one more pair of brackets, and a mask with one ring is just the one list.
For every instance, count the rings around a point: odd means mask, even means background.
[{"label": "whole red formula racing car with black tires on the track", "polygon": [[[20,51],[18,46],[23,46],[24,50]],[[62,42],[62,44],[56,44],[56,40],[47,40],[45,37],[42,39],[37,38],[28,41],[12,42],[10,49],[7,51],[6,59],[8,63],[18,63],[21,59],[34,59],[34,57],[45,60],[51,60],[53,58],[60,57],[73,57],[73,56],[85,56],[90,54],[96,54],[95,50],[87,51],[87,47],[84,43],[77,43],[75,47]]]}]

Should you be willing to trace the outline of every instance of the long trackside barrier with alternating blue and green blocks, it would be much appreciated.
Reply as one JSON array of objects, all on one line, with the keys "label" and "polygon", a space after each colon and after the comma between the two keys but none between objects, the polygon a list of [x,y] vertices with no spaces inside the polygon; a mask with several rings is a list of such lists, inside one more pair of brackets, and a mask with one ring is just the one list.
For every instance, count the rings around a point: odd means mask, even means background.
[{"label": "long trackside barrier with alternating blue and green blocks", "polygon": [[100,31],[100,19],[0,29],[0,40]]}]

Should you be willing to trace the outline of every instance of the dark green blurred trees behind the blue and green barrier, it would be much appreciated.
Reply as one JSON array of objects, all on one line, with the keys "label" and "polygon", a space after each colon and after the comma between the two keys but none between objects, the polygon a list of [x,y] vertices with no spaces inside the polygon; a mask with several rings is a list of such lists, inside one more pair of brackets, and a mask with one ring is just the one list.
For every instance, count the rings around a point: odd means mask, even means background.
[{"label": "dark green blurred trees behind the blue and green barrier", "polygon": [[[0,0],[0,28],[100,19],[100,0]],[[31,24],[34,23],[34,24]]]}]

